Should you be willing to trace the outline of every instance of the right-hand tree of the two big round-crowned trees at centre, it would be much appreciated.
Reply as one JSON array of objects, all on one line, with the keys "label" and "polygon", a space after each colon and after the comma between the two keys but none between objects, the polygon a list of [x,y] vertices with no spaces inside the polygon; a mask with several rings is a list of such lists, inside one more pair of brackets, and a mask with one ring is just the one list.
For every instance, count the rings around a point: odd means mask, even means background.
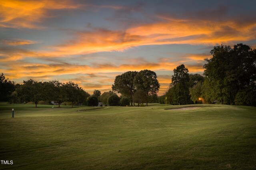
[{"label": "right-hand tree of the two big round-crowned trees at centre", "polygon": [[149,97],[156,95],[160,88],[156,73],[151,70],[138,72],[134,78],[134,85],[136,89],[143,90],[146,93],[146,106],[148,106]]}]

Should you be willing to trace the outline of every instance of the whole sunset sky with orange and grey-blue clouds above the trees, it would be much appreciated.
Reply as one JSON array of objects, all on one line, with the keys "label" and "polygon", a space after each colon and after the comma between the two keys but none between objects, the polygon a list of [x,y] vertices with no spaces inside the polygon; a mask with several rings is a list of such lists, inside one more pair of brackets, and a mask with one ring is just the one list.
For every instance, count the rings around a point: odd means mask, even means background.
[{"label": "whole sunset sky with orange and grey-blue clouds above the trees", "polygon": [[1,0],[0,72],[111,90],[126,71],[153,70],[159,95],[173,69],[203,73],[215,45],[256,48],[256,0]]}]

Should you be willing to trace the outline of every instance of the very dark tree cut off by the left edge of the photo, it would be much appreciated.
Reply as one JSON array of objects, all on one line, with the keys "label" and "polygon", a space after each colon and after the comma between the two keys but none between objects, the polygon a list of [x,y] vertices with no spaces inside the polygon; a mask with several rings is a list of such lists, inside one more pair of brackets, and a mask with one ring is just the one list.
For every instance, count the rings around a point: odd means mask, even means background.
[{"label": "very dark tree cut off by the left edge of the photo", "polygon": [[0,74],[0,102],[7,102],[10,100],[12,92],[14,92],[14,81],[6,79],[4,73]]}]

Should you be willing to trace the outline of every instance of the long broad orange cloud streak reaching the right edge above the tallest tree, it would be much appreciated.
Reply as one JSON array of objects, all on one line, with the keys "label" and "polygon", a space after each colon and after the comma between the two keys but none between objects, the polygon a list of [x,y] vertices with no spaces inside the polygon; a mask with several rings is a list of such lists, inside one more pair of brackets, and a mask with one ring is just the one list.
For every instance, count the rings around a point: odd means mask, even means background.
[{"label": "long broad orange cloud streak reaching the right edge above the tallest tree", "polygon": [[75,40],[53,48],[54,55],[78,55],[102,51],[123,51],[142,45],[217,45],[255,39],[256,23],[236,21],[173,20],[131,27],[126,31],[94,29],[78,32]]}]

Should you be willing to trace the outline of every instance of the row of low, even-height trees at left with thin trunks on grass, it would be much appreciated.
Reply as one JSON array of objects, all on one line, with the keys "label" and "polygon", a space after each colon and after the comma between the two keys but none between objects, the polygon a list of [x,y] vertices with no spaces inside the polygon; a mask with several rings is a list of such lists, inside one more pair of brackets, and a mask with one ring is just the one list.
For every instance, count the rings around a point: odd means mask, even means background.
[{"label": "row of low, even-height trees at left with thin trunks on grass", "polygon": [[71,81],[37,82],[30,79],[24,80],[23,84],[9,83],[12,84],[12,90],[8,90],[8,95],[1,101],[9,101],[11,104],[33,102],[37,107],[40,101],[54,101],[58,107],[63,102],[70,102],[73,107],[74,104],[86,104],[86,99],[90,96],[78,84]]}]

